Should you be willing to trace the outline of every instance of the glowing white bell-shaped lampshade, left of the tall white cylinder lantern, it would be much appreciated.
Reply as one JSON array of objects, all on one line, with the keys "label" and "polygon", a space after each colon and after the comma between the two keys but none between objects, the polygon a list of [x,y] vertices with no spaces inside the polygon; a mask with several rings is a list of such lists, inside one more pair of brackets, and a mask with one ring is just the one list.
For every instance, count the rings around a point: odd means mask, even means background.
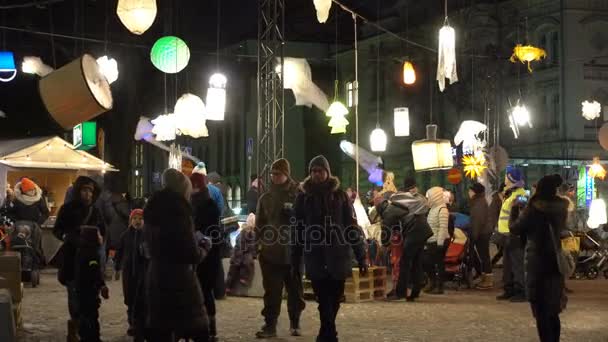
[{"label": "glowing white bell-shaped lampshade, left of the tall white cylinder lantern", "polygon": [[206,125],[205,103],[194,94],[182,95],[173,113],[175,114],[175,128],[180,135],[189,135],[193,138],[208,137],[209,130]]}]

